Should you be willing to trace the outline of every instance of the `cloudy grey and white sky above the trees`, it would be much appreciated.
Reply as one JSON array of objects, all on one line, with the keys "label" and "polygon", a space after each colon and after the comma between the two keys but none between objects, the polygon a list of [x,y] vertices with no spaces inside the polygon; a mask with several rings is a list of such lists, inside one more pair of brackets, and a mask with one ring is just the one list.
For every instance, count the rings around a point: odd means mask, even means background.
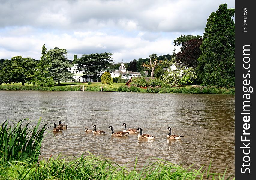
[{"label": "cloudy grey and white sky above the trees", "polygon": [[180,51],[175,38],[203,36],[209,15],[225,3],[235,8],[235,0],[0,0],[0,59],[40,60],[43,45],[66,49],[71,60],[171,55]]}]

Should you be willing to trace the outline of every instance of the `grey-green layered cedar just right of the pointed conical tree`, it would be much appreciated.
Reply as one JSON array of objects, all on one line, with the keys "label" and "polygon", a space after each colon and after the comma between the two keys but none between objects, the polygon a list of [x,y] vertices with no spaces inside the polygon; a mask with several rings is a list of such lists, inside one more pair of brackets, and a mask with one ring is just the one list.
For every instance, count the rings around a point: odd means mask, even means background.
[{"label": "grey-green layered cedar just right of the pointed conical tree", "polygon": [[55,47],[50,49],[48,54],[51,59],[50,76],[53,77],[58,85],[61,84],[61,81],[75,80],[73,73],[68,70],[72,65],[68,63],[68,58],[65,56],[67,55],[66,49]]}]

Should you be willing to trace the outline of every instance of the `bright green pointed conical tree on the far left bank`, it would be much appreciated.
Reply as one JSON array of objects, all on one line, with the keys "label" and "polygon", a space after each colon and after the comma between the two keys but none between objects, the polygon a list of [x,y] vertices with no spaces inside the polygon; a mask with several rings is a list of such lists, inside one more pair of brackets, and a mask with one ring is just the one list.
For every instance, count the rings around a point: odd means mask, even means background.
[{"label": "bright green pointed conical tree on the far left bank", "polygon": [[43,45],[41,53],[41,59],[36,67],[35,73],[30,83],[40,86],[53,86],[55,82],[53,80],[53,77],[50,77],[49,72],[49,69],[51,67],[51,59],[49,54],[47,54],[47,48],[45,47],[45,45]]}]

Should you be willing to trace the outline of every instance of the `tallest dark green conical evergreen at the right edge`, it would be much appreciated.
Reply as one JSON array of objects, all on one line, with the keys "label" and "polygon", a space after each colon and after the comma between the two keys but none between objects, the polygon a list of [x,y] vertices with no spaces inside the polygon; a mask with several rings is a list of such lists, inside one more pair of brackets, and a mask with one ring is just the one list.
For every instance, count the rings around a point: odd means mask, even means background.
[{"label": "tallest dark green conical evergreen at the right edge", "polygon": [[235,9],[221,4],[207,19],[196,69],[204,86],[235,87]]}]

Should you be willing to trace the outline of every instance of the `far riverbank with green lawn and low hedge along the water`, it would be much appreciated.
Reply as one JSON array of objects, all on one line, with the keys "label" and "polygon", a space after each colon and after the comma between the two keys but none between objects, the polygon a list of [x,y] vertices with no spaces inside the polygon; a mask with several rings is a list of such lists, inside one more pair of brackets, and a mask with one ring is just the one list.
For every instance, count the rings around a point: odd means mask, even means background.
[{"label": "far riverbank with green lawn and low hedge along the water", "polygon": [[188,93],[188,94],[235,94],[235,88],[216,88],[193,86],[193,85],[182,85],[174,87],[151,87],[139,88],[136,86],[125,86],[125,83],[113,83],[112,86],[104,85],[100,82],[88,83],[63,83],[61,86],[53,87],[42,87],[25,84],[22,86],[21,83],[14,83],[11,85],[3,84],[0,85],[0,90],[37,90],[37,91],[114,91],[114,92],[144,92],[144,93]]}]

